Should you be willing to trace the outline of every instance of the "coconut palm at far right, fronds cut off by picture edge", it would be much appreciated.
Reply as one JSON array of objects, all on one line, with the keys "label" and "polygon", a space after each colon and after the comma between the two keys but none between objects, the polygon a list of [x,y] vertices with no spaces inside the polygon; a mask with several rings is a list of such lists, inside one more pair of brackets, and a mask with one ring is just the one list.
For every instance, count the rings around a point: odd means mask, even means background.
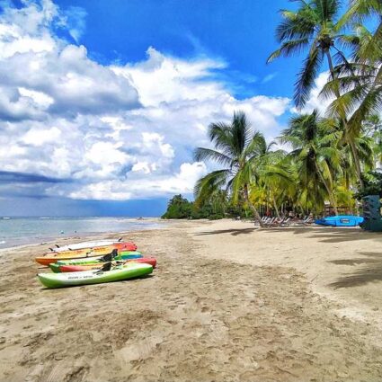
[{"label": "coconut palm at far right, fronds cut off by picture edge", "polygon": [[[382,109],[382,1],[351,0],[338,24],[355,31],[351,38],[345,39],[353,50],[353,62],[335,67],[336,79],[326,84],[322,93],[335,97],[328,110],[332,116],[342,119],[346,116],[344,138],[351,145],[362,185],[356,141],[361,138],[364,122]],[[376,27],[369,31],[367,25]]]}]

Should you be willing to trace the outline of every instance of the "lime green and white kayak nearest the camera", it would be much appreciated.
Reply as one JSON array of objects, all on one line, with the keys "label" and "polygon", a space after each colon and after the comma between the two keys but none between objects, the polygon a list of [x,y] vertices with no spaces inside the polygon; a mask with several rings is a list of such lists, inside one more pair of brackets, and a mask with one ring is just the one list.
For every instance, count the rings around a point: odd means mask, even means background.
[{"label": "lime green and white kayak nearest the camera", "polygon": [[145,276],[153,271],[153,267],[144,263],[130,263],[111,271],[79,271],[68,273],[39,273],[42,285],[47,288],[63,288],[76,285],[99,284],[129,280]]}]

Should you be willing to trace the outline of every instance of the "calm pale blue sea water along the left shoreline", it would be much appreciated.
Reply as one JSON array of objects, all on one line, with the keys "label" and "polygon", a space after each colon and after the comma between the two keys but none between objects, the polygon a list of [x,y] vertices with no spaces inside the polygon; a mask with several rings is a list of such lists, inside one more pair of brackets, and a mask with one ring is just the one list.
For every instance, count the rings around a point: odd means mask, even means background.
[{"label": "calm pale blue sea water along the left shoreline", "polygon": [[36,244],[59,236],[138,231],[162,227],[136,218],[0,218],[0,248]]}]

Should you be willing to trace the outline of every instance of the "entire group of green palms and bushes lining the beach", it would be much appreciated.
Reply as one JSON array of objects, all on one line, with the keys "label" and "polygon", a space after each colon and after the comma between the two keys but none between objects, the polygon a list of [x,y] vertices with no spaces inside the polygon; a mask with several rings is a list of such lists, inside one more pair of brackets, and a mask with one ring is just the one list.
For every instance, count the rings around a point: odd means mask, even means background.
[{"label": "entire group of green palms and bushes lining the beach", "polygon": [[[281,11],[280,48],[268,61],[305,51],[294,91],[299,113],[271,143],[244,112],[236,111],[229,124],[211,123],[211,147],[197,148],[195,159],[221,168],[197,182],[195,202],[182,207],[187,218],[207,217],[200,211],[208,209],[223,217],[234,208],[239,215],[251,211],[262,226],[265,210],[279,217],[289,210],[320,214],[329,202],[335,214],[340,208],[353,213],[357,198],[382,196],[376,171],[382,160],[382,2],[351,0],[342,14],[337,0],[297,3],[297,11]],[[320,115],[304,107],[324,65],[328,78],[320,96],[329,106]],[[165,216],[173,216],[170,210],[183,216],[172,202]]]}]

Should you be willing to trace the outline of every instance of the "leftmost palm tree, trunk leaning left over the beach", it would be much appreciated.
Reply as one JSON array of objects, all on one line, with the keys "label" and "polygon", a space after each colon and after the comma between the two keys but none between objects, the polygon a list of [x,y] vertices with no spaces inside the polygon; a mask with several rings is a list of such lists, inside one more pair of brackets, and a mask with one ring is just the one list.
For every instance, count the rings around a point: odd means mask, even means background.
[{"label": "leftmost palm tree, trunk leaning left over the beach", "polygon": [[263,227],[258,210],[250,200],[250,184],[256,182],[256,167],[261,164],[268,147],[262,133],[253,131],[244,112],[234,113],[230,124],[223,122],[209,125],[212,148],[198,147],[197,161],[212,160],[225,166],[202,177],[195,185],[196,200],[205,200],[226,188],[236,204],[242,197],[253,211],[254,218]]}]

